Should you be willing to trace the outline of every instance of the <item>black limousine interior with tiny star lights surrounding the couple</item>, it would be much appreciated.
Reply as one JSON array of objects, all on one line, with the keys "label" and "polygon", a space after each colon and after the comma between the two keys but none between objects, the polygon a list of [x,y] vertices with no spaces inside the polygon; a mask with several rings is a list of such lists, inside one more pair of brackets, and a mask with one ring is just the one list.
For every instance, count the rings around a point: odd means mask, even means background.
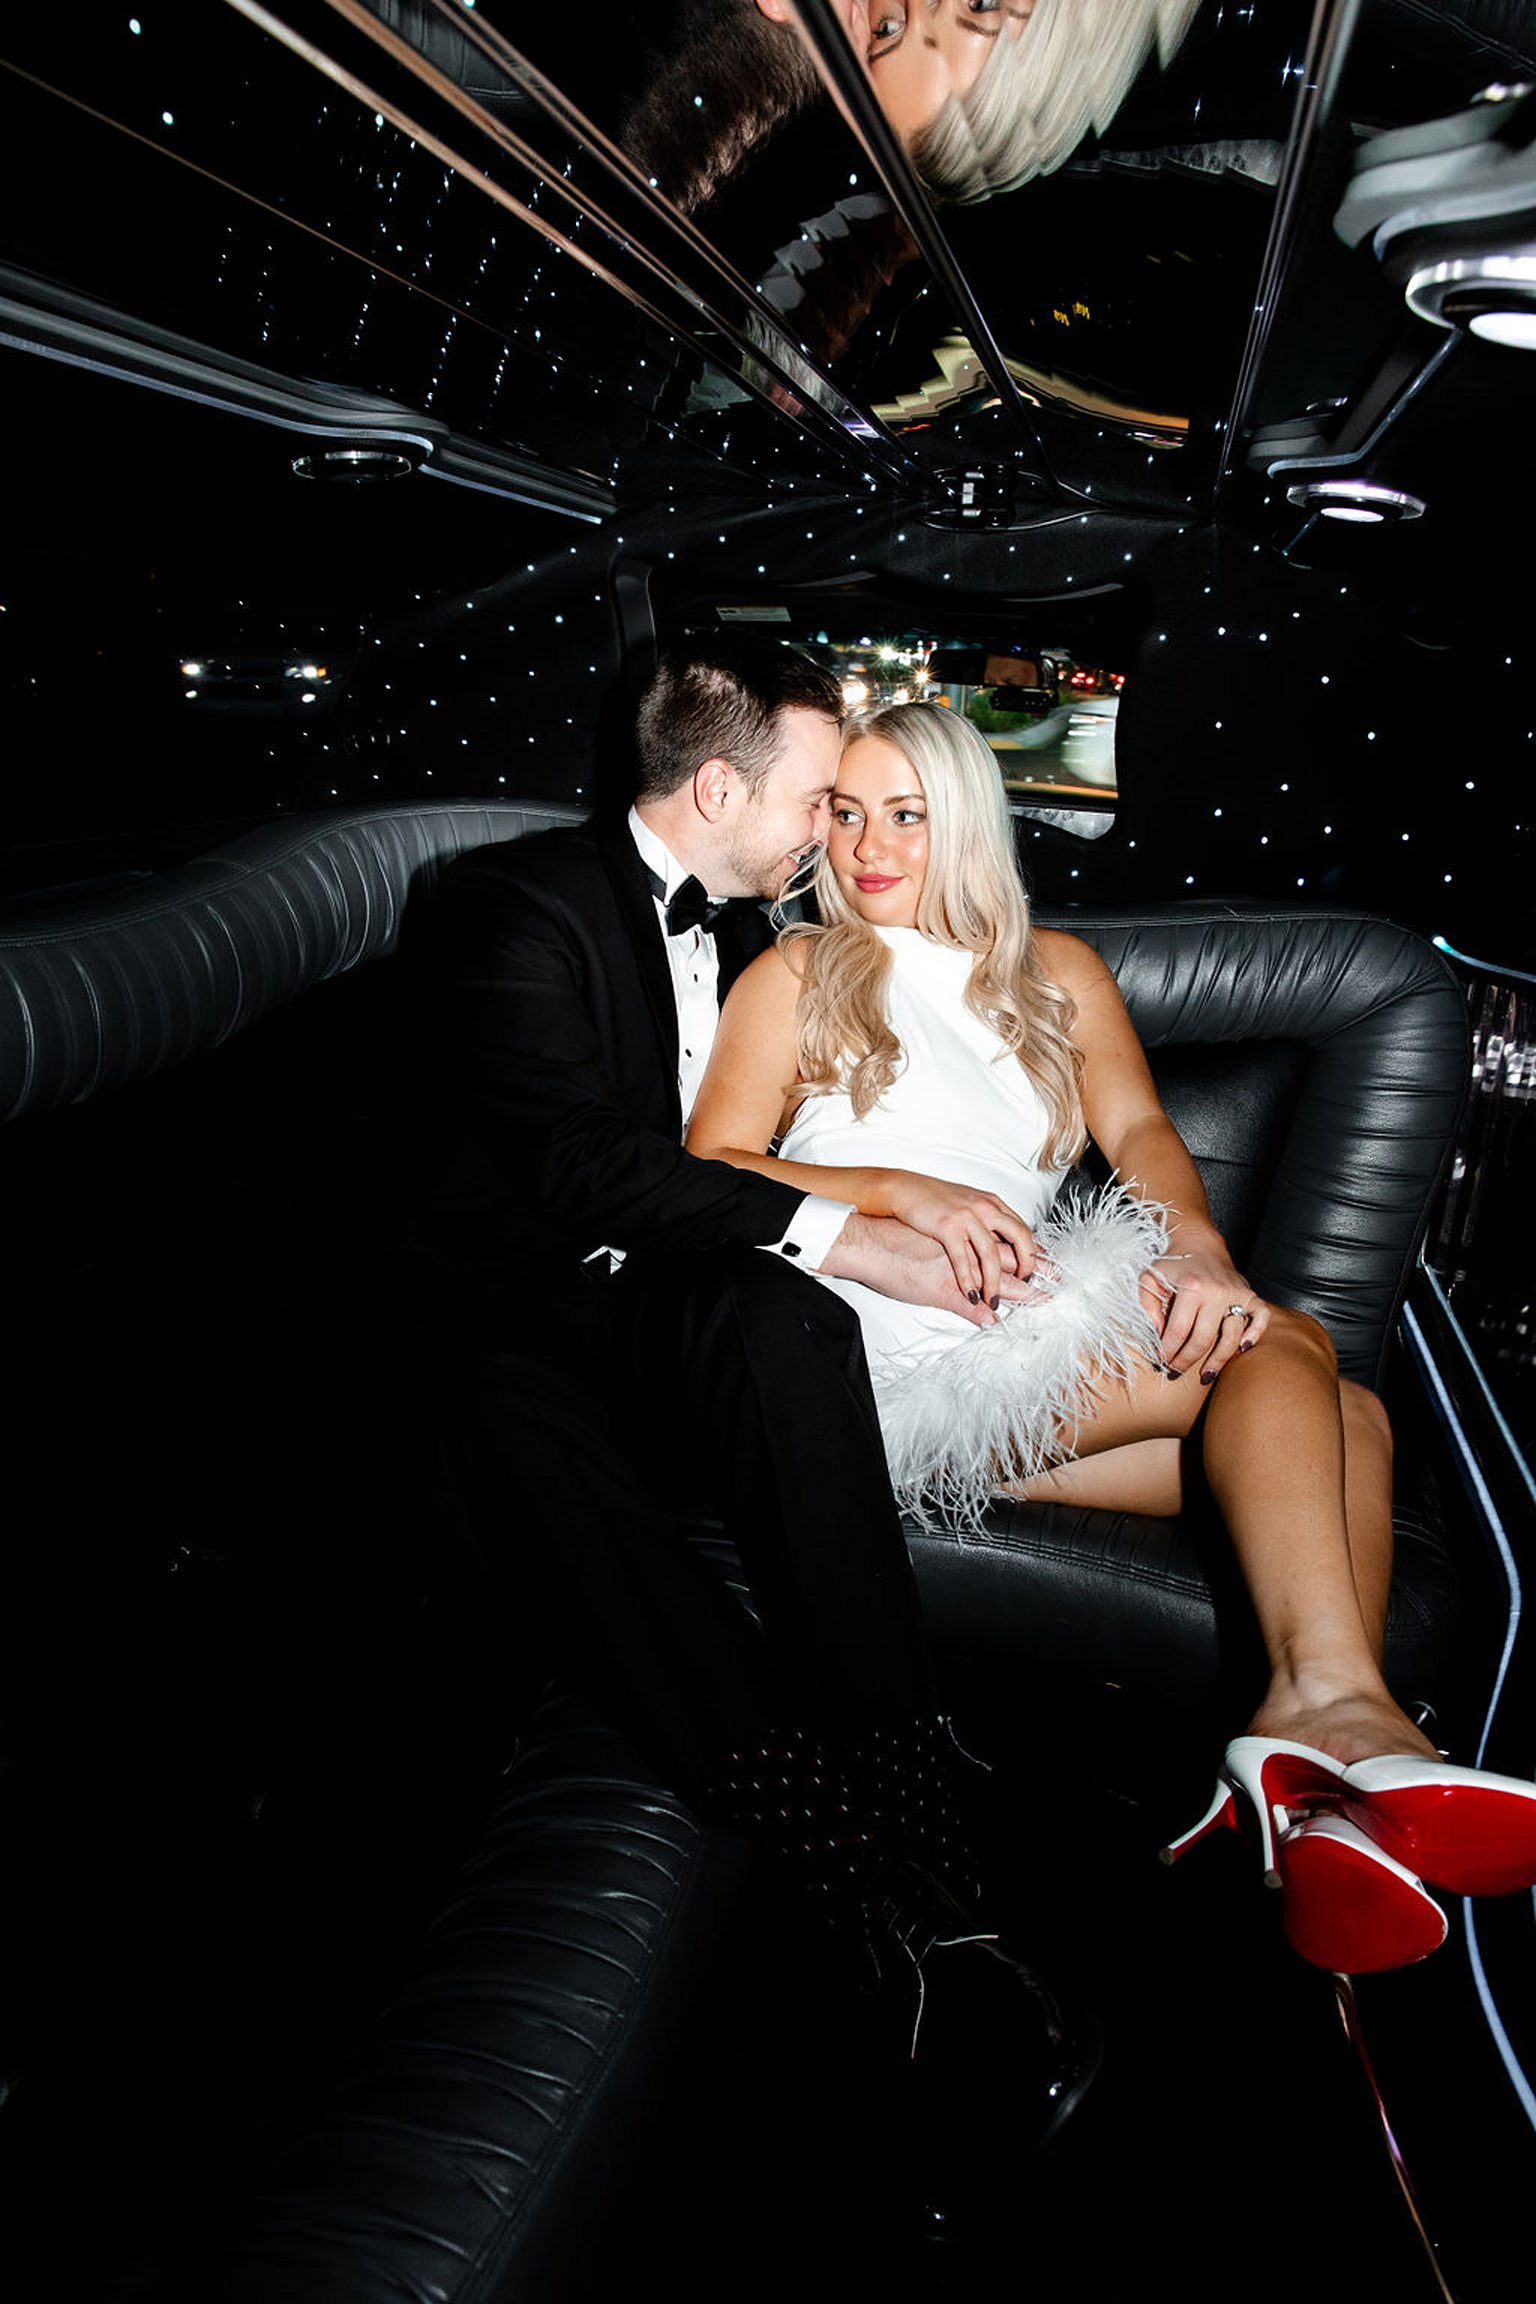
[{"label": "black limousine interior with tiny star lights surrounding the couple", "polygon": [[[1398,1445],[1386,1663],[1536,1776],[1536,16],[143,0],[0,28],[0,2274],[28,2304],[1495,2304],[1531,1896],[1308,1968],[1214,1516],[910,1551],[1092,2094],[914,2233],[751,1846],[380,1371],[449,862],[753,629],[993,744],[1255,1288]],[[944,46],[946,44],[946,46]],[[949,83],[946,83],[949,85]],[[601,1371],[594,1371],[601,1382]],[[516,1509],[516,1500],[514,1507]],[[730,1528],[691,1541],[742,1585]]]}]

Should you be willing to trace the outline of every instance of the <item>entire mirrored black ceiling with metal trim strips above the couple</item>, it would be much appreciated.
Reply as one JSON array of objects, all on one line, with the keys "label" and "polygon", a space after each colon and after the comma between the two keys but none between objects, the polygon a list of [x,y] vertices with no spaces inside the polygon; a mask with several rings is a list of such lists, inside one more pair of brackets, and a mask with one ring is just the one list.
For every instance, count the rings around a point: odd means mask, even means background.
[{"label": "entire mirrored black ceiling with metal trim strips above the couple", "polygon": [[0,295],[14,343],[578,518],[693,477],[896,486],[999,528],[1209,518],[1244,419],[1329,396],[1308,346],[1347,329],[1306,325],[1317,260],[1271,343],[1283,253],[1329,251],[1320,173],[1469,101],[1476,14],[12,12]]}]

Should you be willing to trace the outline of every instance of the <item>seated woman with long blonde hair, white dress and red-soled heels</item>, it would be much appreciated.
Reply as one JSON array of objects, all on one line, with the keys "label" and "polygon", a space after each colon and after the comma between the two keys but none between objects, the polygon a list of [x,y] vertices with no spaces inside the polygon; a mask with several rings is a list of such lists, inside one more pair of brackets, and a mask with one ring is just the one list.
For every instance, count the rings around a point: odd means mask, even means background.
[{"label": "seated woman with long blonde hair, white dress and red-soled heels", "polygon": [[[972,1302],[1002,1311],[976,1329],[824,1283],[859,1309],[903,1500],[926,1488],[974,1509],[979,1428],[997,1447],[993,1488],[1170,1514],[1200,1426],[1269,1687],[1168,1857],[1234,1822],[1239,1795],[1306,1958],[1352,1972],[1423,1958],[1446,1933],[1425,1880],[1453,1894],[1536,1880],[1536,1786],[1444,1765],[1386,1689],[1379,1401],[1340,1380],[1317,1322],[1237,1272],[1115,979],[1078,938],[1029,922],[1002,776],[967,721],[894,705],[850,726],[815,894],[820,922],[785,929],[732,988],[689,1147],[903,1217],[942,1242]],[[1062,1219],[1055,1189],[1089,1136],[1119,1187]],[[1071,1341],[1064,1385],[1036,1320]],[[999,1375],[1036,1357],[1045,1412],[1016,1399],[999,1422]]]}]

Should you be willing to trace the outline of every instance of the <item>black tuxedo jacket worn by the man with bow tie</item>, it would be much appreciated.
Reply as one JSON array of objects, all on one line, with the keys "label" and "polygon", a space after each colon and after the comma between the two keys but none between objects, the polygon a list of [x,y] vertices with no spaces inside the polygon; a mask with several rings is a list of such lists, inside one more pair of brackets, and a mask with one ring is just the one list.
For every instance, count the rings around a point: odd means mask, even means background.
[{"label": "black tuxedo jacket worn by the man with bow tie", "polygon": [[[769,942],[755,905],[716,929],[721,995]],[[456,1221],[484,1279],[567,1272],[599,1246],[762,1244],[801,1193],[682,1150],[677,1007],[624,820],[458,857],[433,899],[426,1023],[456,1136]]]}]

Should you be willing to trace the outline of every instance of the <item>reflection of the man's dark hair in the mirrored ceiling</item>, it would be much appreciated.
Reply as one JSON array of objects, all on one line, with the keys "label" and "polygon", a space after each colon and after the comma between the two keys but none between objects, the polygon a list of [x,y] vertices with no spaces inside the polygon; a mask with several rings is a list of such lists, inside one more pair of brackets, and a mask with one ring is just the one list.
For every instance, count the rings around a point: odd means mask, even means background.
[{"label": "reflection of the man's dark hair in the mirrored ceiling", "polygon": [[638,168],[691,214],[765,136],[822,94],[794,32],[755,0],[682,0],[668,53],[624,120]]}]

